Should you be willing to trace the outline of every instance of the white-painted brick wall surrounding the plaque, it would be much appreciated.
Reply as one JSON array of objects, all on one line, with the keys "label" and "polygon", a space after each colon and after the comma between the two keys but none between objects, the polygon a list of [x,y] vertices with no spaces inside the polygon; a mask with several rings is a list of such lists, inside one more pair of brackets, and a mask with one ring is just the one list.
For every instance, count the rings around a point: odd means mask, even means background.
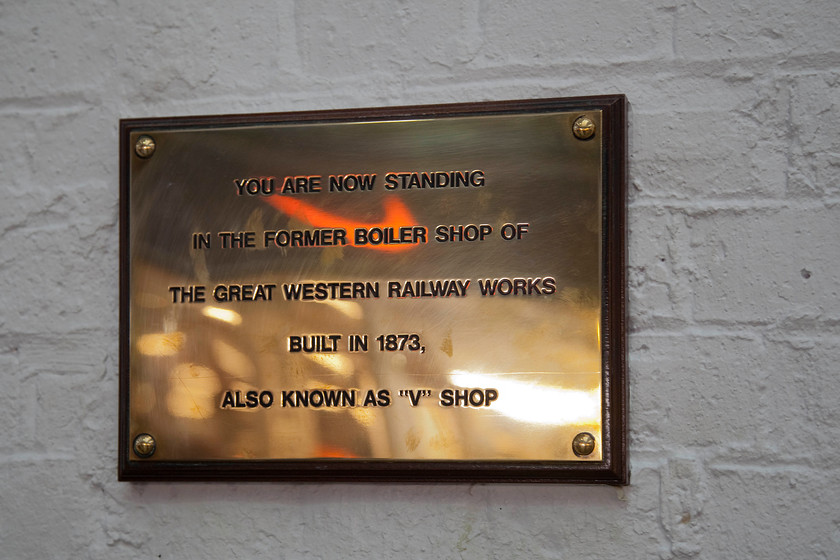
[{"label": "white-painted brick wall surrounding the plaque", "polygon": [[[0,557],[840,557],[835,0],[0,2]],[[121,117],[621,92],[631,485],[116,480]]]}]

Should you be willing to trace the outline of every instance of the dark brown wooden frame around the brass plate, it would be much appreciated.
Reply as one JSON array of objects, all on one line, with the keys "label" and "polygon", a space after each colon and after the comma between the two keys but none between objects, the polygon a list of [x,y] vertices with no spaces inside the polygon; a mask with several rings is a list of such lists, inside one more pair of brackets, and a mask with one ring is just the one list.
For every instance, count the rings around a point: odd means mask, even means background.
[{"label": "dark brown wooden frame around the brass plate", "polygon": [[[364,122],[556,111],[603,111],[602,410],[604,455],[599,462],[563,461],[136,461],[129,433],[129,162],[130,134],[198,127],[305,122]],[[627,484],[627,364],[625,319],[627,101],[624,95],[483,103],[378,107],[297,113],[120,120],[120,480],[240,480],[319,482],[573,482]]]}]

